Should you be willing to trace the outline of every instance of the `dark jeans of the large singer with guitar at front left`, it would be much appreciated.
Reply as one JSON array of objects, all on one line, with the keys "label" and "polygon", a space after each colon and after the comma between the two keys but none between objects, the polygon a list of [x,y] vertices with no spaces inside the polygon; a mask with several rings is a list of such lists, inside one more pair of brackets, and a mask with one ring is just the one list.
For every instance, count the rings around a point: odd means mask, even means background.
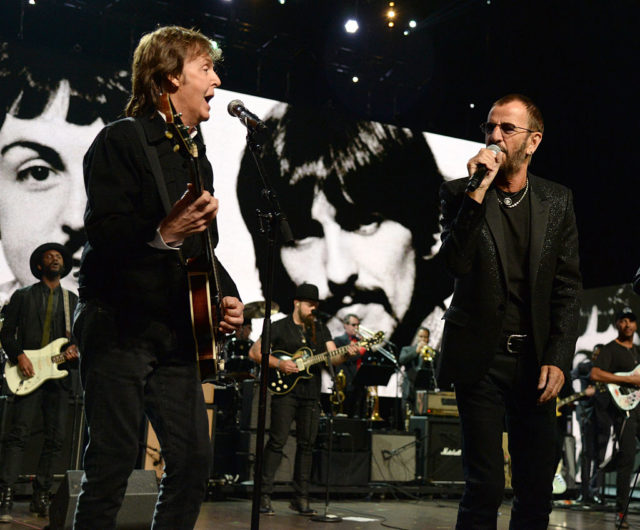
[{"label": "dark jeans of the large singer with guitar at front left", "polygon": [[148,343],[121,344],[109,310],[78,304],[74,334],[81,351],[89,443],[75,529],[116,528],[137,459],[145,414],[165,460],[152,528],[191,529],[212,462],[208,421],[195,354],[154,353]]}]

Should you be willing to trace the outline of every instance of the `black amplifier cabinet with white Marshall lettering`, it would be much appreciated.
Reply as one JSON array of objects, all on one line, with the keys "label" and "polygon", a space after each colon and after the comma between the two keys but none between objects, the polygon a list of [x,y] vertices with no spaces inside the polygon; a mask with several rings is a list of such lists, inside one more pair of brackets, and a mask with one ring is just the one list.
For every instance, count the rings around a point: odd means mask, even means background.
[{"label": "black amplifier cabinet with white Marshall lettering", "polygon": [[409,430],[416,435],[416,478],[432,484],[464,483],[460,420],[411,416]]}]

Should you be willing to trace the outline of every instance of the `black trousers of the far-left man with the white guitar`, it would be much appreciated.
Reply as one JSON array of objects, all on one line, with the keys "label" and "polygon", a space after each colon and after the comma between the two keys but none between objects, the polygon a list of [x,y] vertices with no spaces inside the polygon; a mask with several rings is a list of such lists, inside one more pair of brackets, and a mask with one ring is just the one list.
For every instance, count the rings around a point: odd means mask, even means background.
[{"label": "black trousers of the far-left man with the white guitar", "polygon": [[53,462],[62,452],[69,391],[60,381],[46,381],[26,396],[16,396],[11,405],[12,428],[6,437],[0,470],[0,487],[12,487],[18,479],[22,457],[37,414],[42,414],[44,444],[38,460],[34,489],[49,491],[53,484]]}]

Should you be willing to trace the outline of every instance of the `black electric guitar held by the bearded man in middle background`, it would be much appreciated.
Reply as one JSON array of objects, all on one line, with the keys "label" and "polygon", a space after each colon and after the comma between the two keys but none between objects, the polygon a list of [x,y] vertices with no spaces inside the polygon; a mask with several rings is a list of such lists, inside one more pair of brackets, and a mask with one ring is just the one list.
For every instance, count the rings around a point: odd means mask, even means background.
[{"label": "black electric guitar held by the bearded man in middle background", "polygon": [[[378,331],[378,333],[373,335],[373,337],[369,339],[363,339],[352,344],[355,344],[359,348],[366,348],[370,350],[372,347],[375,347],[375,345],[380,344],[383,340],[384,333],[382,331]],[[333,359],[334,357],[347,353],[350,347],[351,344],[347,344],[346,346],[342,346],[337,350],[326,351],[315,355],[307,346],[300,348],[293,355],[280,350],[271,352],[271,355],[273,357],[276,357],[281,361],[293,361],[294,363],[296,363],[298,372],[285,374],[284,372],[276,368],[269,368],[269,391],[272,394],[276,395],[284,395],[288,392],[291,392],[291,390],[293,390],[293,388],[296,386],[296,383],[300,379],[311,379],[313,377],[313,374],[309,372],[309,368],[311,366],[313,366],[314,364],[331,362],[331,359]]]}]

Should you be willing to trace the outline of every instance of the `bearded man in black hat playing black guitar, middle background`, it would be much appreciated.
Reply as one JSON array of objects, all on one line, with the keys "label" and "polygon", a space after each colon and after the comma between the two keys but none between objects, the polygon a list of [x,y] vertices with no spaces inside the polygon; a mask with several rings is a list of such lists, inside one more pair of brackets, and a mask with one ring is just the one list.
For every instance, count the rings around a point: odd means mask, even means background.
[{"label": "bearded man in black hat playing black guitar, middle background", "polygon": [[[315,510],[309,507],[309,480],[311,478],[311,463],[313,444],[318,434],[318,420],[320,418],[320,363],[311,366],[309,377],[296,377],[299,368],[291,356],[300,348],[310,348],[313,354],[326,352],[326,359],[332,364],[340,364],[349,356],[359,355],[357,345],[351,344],[341,348],[341,353],[331,339],[327,327],[314,316],[318,308],[318,287],[310,283],[303,283],[296,289],[293,312],[275,322],[271,328],[272,354],[269,356],[269,367],[279,374],[278,383],[270,378],[269,389],[271,398],[271,430],[269,441],[264,448],[264,463],[262,468],[262,499],[260,513],[273,515],[271,494],[273,481],[282,459],[282,451],[287,443],[291,423],[296,420],[296,459],[293,476],[295,497],[289,507],[301,515],[314,515]],[[261,339],[251,347],[249,356],[258,364],[262,359],[260,353]],[[344,351],[344,353],[342,353]],[[288,352],[285,355],[284,352]],[[285,388],[285,386],[287,388]]]}]

